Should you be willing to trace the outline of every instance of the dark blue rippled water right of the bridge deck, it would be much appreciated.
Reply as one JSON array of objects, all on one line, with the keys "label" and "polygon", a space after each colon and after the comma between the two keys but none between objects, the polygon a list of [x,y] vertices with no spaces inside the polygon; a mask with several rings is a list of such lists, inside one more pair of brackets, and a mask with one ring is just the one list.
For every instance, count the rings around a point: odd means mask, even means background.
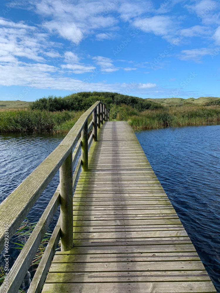
[{"label": "dark blue rippled water right of the bridge deck", "polygon": [[220,292],[220,125],[136,136]]}]

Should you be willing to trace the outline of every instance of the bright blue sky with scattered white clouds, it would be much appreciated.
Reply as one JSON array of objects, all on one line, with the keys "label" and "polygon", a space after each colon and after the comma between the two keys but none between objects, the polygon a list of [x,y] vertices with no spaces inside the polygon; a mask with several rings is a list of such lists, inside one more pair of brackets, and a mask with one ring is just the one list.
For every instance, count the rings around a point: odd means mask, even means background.
[{"label": "bright blue sky with scattered white clouds", "polygon": [[220,97],[220,3],[1,0],[0,100]]}]

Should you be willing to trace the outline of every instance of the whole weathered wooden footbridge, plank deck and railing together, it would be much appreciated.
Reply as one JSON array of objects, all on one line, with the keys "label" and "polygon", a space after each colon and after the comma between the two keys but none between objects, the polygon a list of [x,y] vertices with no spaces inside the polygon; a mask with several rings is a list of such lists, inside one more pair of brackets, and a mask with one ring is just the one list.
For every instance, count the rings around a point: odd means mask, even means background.
[{"label": "whole weathered wooden footbridge, plank deck and railing together", "polygon": [[43,293],[216,292],[133,130],[127,122],[109,122],[99,101],[1,203],[1,249],[5,225],[11,238],[59,168],[60,185],[0,293],[18,292],[59,205],[28,293],[40,292],[44,282]]}]

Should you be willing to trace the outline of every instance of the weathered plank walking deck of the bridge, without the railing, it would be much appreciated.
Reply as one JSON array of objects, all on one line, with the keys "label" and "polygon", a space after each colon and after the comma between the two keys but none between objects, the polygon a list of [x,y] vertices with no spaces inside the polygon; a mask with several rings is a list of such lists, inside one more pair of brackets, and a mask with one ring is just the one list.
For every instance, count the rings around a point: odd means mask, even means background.
[{"label": "weathered plank walking deck of the bridge, without the railing", "polygon": [[43,293],[216,292],[127,122],[105,122],[73,197],[74,248]]}]

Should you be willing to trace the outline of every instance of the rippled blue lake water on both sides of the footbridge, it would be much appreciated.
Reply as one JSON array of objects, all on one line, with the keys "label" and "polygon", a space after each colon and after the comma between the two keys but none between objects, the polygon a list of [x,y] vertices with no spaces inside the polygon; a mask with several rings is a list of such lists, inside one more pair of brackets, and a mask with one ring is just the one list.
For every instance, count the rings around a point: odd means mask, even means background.
[{"label": "rippled blue lake water on both sides of the footbridge", "polygon": [[[146,130],[136,132],[136,136],[220,292],[220,125]],[[0,202],[63,137],[0,134]],[[28,214],[30,222],[40,218],[58,183],[59,173]],[[58,214],[50,225],[52,229]],[[11,247],[9,253],[13,263],[18,250]],[[26,276],[24,288],[31,274]]]}]

